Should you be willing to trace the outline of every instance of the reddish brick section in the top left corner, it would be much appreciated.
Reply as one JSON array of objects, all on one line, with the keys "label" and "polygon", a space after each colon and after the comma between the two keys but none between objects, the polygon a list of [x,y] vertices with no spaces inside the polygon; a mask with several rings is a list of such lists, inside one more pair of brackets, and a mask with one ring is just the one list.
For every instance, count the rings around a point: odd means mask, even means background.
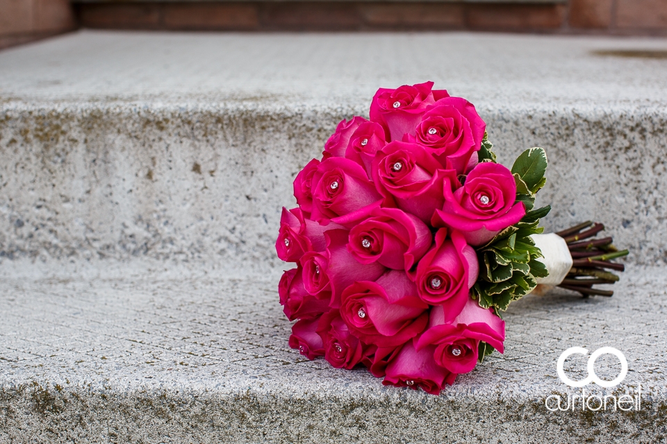
[{"label": "reddish brick section in the top left corner", "polygon": [[0,48],[74,28],[69,0],[0,0]]}]

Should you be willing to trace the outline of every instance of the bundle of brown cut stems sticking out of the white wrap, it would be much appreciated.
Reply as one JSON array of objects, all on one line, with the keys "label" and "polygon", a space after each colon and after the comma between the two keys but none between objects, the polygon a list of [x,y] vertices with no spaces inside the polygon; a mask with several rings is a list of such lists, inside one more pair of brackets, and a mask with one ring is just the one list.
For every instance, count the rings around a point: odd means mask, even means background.
[{"label": "bundle of brown cut stems sticking out of the white wrap", "polygon": [[618,275],[607,270],[624,271],[623,264],[611,262],[612,259],[627,256],[628,250],[619,251],[611,237],[591,239],[604,230],[602,223],[586,221],[566,230],[557,232],[565,239],[573,257],[573,266],[568,277],[558,287],[577,291],[588,296],[612,296],[613,291],[594,288],[594,285],[614,284]]}]

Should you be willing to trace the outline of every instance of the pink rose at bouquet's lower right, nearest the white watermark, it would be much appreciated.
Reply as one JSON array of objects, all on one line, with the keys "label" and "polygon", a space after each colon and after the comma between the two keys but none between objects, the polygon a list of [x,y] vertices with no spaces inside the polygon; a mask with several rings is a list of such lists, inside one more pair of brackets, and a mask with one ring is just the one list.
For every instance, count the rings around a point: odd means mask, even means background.
[{"label": "pink rose at bouquet's lower right, nearest the white watermark", "polygon": [[452,373],[468,373],[477,365],[479,341],[503,352],[505,323],[493,309],[479,307],[468,298],[466,307],[451,323],[445,323],[442,306],[431,309],[429,329],[420,336],[417,350],[436,345],[434,359]]}]

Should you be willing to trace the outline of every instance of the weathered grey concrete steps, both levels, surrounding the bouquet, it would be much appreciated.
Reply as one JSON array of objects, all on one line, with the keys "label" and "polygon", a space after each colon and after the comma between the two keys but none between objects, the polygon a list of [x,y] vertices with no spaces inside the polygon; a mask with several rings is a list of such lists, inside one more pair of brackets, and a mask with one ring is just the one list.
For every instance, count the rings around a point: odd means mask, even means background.
[{"label": "weathered grey concrete steps, both levels, surrounding the bouquet", "polygon": [[[665,49],[85,31],[3,51],[0,442],[664,439],[667,62],[635,56]],[[516,304],[506,354],[439,398],[289,350],[273,248],[336,123],[427,79],[475,103],[505,163],[546,148],[547,229],[595,219],[632,251],[614,298]],[[623,350],[641,411],[547,411],[574,345]]]}]

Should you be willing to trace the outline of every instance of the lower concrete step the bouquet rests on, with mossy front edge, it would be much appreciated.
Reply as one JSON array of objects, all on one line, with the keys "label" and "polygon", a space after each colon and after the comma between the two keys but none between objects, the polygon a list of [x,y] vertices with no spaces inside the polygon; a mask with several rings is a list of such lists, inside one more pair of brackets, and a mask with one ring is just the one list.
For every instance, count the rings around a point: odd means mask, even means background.
[{"label": "lower concrete step the bouquet rests on, with mossy front edge", "polygon": [[[667,279],[613,298],[527,296],[494,353],[439,397],[287,348],[279,275],[160,262],[4,266],[0,443],[657,443],[667,438]],[[566,348],[623,350],[640,411],[550,412]],[[618,363],[597,361],[613,379]],[[579,379],[585,361],[568,371]],[[593,389],[594,393],[599,393]],[[591,393],[591,387],[588,391]]]}]

